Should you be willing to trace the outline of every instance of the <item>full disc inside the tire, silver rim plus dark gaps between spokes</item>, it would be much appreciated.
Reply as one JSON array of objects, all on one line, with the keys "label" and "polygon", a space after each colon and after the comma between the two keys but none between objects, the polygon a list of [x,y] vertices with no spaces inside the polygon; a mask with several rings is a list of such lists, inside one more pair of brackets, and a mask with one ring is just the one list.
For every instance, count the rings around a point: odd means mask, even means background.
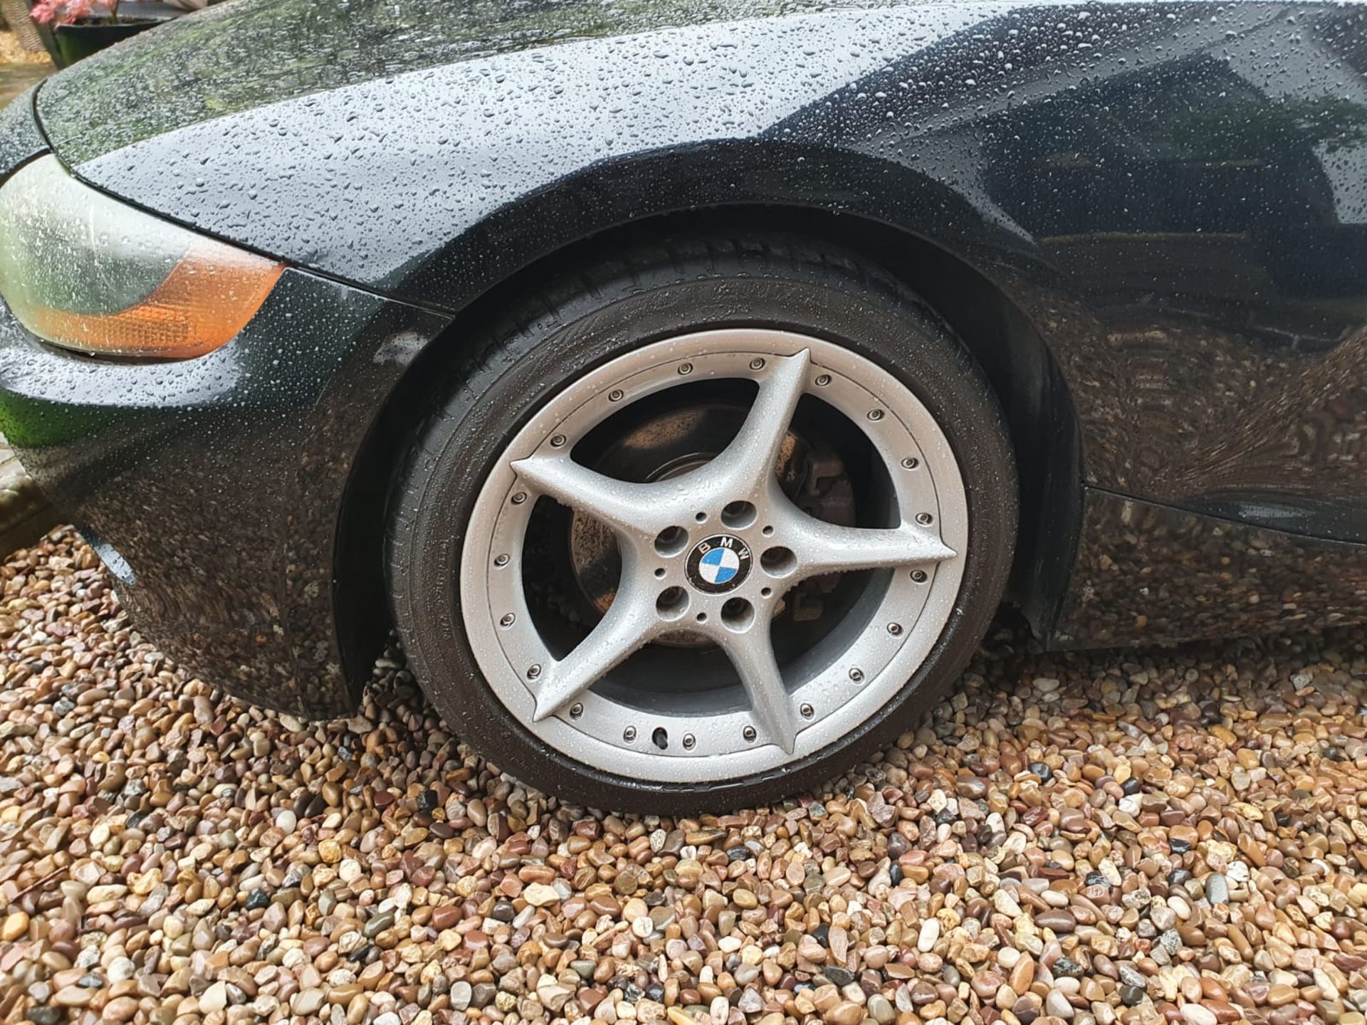
[{"label": "full disc inside the tire, silver rim plus dark gaps between spokes", "polygon": [[[749,391],[718,405],[703,384]],[[533,593],[547,503],[573,511],[588,615]],[[886,370],[790,332],[700,332],[599,366],[518,432],[476,500],[462,615],[541,742],[625,778],[738,778],[839,741],[913,675],[953,614],[966,511],[943,432]]]}]

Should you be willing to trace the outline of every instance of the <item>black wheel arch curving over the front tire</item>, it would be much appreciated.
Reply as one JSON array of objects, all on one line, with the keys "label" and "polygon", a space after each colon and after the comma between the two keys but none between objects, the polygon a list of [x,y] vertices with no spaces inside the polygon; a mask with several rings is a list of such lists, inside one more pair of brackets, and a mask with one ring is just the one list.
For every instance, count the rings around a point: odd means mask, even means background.
[{"label": "black wheel arch curving over the front tire", "polygon": [[987,275],[943,245],[886,221],[809,206],[734,204],[664,212],[580,238],[489,284],[405,372],[372,422],[353,465],[338,525],[334,599],[347,676],[368,678],[392,629],[383,567],[385,508],[399,451],[439,368],[461,339],[537,279],[642,236],[778,232],[838,243],[916,291],[977,359],[1002,403],[1020,477],[1020,532],[1009,596],[1040,636],[1062,601],[1081,525],[1077,414],[1064,374],[1029,317]]}]

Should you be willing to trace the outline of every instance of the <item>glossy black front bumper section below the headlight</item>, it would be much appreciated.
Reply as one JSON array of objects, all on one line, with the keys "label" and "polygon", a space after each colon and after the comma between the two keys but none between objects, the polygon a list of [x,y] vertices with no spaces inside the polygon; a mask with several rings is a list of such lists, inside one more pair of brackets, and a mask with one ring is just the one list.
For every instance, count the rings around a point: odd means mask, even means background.
[{"label": "glossy black front bumper section below the headlight", "polygon": [[0,432],[172,657],[242,697],[340,713],[365,679],[343,671],[362,638],[336,630],[332,571],[358,410],[443,325],[297,271],[238,338],[182,362],[90,359],[5,314]]}]

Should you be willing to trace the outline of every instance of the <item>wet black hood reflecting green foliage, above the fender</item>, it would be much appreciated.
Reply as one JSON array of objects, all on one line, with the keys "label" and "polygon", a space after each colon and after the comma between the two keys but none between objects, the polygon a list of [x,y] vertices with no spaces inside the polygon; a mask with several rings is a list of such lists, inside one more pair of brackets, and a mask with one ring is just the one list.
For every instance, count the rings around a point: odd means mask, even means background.
[{"label": "wet black hood reflecting green foliage, above the fender", "polygon": [[812,0],[232,0],[51,79],[38,116],[77,165],[256,107],[470,57],[666,26],[761,18]]}]

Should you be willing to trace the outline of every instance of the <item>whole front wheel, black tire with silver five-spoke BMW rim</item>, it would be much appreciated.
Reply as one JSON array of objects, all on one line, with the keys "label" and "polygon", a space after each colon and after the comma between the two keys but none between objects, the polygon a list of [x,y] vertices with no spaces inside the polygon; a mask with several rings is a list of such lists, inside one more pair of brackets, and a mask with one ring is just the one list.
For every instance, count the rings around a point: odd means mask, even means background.
[{"label": "whole front wheel, black tire with silver five-spoke BMW rim", "polygon": [[715,239],[543,291],[432,395],[394,611],[447,722],[580,804],[767,801],[912,727],[1001,599],[997,402],[846,253]]}]

